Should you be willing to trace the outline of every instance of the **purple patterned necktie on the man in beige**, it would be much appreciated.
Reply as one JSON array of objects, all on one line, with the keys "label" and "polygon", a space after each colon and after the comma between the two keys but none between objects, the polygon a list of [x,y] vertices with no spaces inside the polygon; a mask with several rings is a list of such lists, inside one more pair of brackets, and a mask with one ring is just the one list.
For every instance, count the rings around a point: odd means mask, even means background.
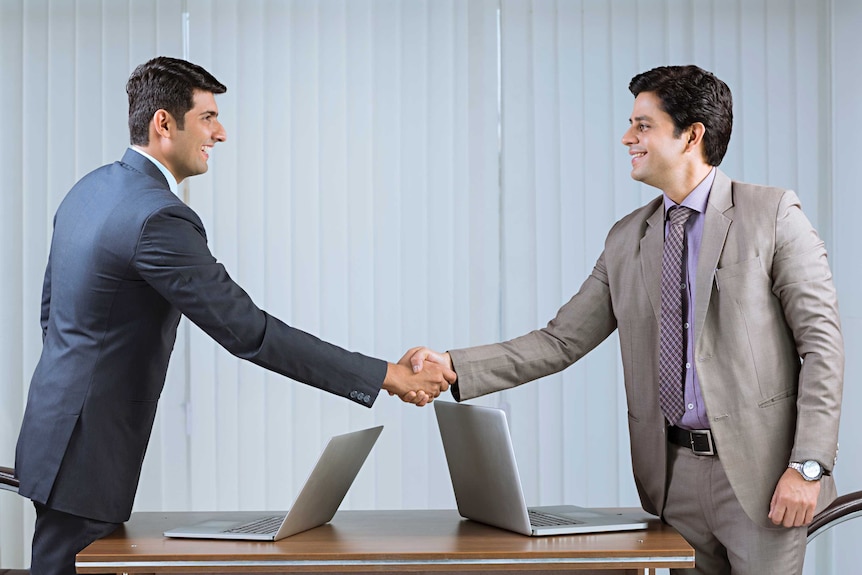
[{"label": "purple patterned necktie on the man in beige", "polygon": [[661,324],[659,326],[659,402],[671,425],[682,418],[685,410],[685,342],[683,330],[686,283],[683,249],[685,222],[694,210],[679,206],[668,210],[670,229],[664,240],[661,259]]}]

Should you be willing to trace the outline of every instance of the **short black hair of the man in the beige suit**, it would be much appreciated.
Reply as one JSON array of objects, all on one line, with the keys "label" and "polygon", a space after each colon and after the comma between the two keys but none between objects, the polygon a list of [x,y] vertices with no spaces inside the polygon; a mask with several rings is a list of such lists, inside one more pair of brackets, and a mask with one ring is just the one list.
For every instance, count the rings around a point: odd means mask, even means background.
[{"label": "short black hair of the man in the beige suit", "polygon": [[733,130],[733,97],[727,84],[697,66],[660,66],[632,78],[629,90],[635,97],[641,92],[658,96],[677,137],[701,122],[706,127],[704,159],[710,166],[721,164]]}]

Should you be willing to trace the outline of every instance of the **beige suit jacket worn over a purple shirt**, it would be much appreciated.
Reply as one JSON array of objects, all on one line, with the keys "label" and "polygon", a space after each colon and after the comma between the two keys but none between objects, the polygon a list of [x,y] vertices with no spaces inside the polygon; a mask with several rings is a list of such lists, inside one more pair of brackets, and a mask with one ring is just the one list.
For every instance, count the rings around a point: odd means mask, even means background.
[{"label": "beige suit jacket worn over a purple shirt", "polygon": [[[565,369],[619,332],[632,465],[641,503],[661,514],[665,421],[658,403],[662,197],[617,222],[592,274],[544,329],[452,350],[460,400]],[[832,469],[844,344],[823,242],[792,191],[718,171],[698,259],[695,363],[718,453],[759,525],[790,461]],[[824,477],[817,509],[836,496]]]}]

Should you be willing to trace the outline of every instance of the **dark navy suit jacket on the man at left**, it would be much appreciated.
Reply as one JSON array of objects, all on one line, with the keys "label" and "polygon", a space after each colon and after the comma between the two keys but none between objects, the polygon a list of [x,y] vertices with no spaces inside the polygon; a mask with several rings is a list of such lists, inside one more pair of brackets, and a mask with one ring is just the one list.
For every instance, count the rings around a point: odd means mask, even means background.
[{"label": "dark navy suit jacket on the man at left", "polygon": [[21,495],[129,518],[181,314],[235,356],[361,405],[386,374],[260,310],[210,253],[197,214],[129,150],[82,178],[54,218],[42,356],[15,457]]}]

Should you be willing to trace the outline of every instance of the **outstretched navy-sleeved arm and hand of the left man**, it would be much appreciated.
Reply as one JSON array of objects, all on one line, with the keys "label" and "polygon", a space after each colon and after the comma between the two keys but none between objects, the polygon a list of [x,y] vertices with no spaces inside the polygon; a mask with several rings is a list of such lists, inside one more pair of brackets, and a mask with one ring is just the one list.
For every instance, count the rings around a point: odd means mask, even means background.
[{"label": "outstretched navy-sleeved arm and hand of the left man", "polygon": [[225,349],[276,373],[368,407],[382,386],[417,404],[421,399],[409,395],[411,391],[434,397],[448,386],[439,368],[415,375],[406,368],[405,374],[259,309],[212,256],[203,226],[185,206],[170,206],[149,217],[135,266],[162,297]]}]

